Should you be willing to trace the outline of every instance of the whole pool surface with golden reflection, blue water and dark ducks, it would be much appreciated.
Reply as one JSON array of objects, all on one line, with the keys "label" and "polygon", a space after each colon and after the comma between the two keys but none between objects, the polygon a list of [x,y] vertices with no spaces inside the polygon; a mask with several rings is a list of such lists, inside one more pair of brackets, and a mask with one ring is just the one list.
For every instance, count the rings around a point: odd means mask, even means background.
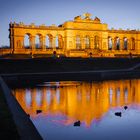
[{"label": "whole pool surface with golden reflection, blue water and dark ducks", "polygon": [[45,140],[140,140],[140,80],[13,89]]}]

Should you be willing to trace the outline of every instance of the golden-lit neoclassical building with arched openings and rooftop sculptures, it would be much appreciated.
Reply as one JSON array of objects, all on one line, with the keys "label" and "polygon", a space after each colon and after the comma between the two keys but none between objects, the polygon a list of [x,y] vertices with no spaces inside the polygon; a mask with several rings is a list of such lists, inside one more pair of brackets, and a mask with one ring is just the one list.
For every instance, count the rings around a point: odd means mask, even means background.
[{"label": "golden-lit neoclassical building with arched openings and rooftop sculptures", "polygon": [[89,13],[56,26],[10,23],[10,53],[66,57],[140,55],[140,31],[109,29]]}]

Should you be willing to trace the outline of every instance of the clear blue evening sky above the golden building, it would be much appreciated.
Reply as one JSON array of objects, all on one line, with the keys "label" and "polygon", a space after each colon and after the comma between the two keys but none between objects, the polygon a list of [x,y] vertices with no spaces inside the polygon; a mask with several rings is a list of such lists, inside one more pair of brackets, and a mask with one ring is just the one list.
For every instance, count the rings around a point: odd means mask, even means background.
[{"label": "clear blue evening sky above the golden building", "polygon": [[0,46],[9,45],[9,23],[62,24],[85,12],[109,28],[139,29],[140,0],[0,0]]}]

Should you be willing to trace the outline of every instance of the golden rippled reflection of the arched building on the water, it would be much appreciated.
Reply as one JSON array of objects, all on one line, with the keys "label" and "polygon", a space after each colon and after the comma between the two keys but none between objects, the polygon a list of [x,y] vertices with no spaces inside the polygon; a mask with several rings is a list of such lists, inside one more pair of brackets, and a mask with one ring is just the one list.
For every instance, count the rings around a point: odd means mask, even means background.
[{"label": "golden rippled reflection of the arched building on the water", "polygon": [[80,120],[90,126],[112,108],[140,104],[138,87],[140,80],[53,82],[32,89],[14,89],[13,95],[31,117],[37,116],[36,110],[42,110],[44,116],[66,116],[65,125]]}]

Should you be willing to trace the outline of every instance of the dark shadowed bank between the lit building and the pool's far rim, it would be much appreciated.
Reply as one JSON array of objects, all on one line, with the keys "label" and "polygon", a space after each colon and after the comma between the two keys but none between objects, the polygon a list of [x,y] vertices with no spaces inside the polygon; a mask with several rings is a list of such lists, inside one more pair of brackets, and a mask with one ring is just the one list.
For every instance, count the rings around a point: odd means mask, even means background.
[{"label": "dark shadowed bank between the lit building and the pool's far rim", "polygon": [[138,63],[140,63],[140,58],[0,59],[0,74],[117,70],[127,69]]}]

